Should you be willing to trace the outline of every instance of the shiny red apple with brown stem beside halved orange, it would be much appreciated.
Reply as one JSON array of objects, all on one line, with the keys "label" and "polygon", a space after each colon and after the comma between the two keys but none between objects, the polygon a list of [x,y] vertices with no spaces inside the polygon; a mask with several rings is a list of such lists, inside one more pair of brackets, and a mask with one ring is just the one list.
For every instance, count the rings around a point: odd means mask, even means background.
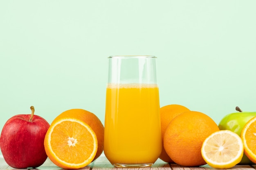
[{"label": "shiny red apple with brown stem beside halved orange", "polygon": [[49,123],[32,113],[11,117],[4,124],[0,148],[6,163],[13,168],[36,168],[47,159],[44,147]]}]

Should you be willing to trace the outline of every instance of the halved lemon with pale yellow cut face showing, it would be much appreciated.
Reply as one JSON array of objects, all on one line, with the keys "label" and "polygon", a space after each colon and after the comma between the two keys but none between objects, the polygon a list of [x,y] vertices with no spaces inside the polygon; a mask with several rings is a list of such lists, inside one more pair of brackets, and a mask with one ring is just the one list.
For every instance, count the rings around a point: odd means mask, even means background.
[{"label": "halved lemon with pale yellow cut face showing", "polygon": [[201,148],[204,161],[209,166],[228,169],[239,163],[243,157],[243,142],[239,135],[221,130],[207,137]]}]

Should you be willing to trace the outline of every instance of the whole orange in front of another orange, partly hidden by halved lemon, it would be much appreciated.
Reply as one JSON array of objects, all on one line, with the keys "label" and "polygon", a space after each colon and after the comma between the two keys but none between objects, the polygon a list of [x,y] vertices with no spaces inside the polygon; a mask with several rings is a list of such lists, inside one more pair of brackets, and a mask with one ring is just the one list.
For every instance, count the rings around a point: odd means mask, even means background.
[{"label": "whole orange in front of another orange, partly hidden by halved lemon", "polygon": [[206,164],[201,155],[204,140],[219,131],[218,125],[204,113],[188,111],[171,120],[164,133],[164,149],[181,166]]}]

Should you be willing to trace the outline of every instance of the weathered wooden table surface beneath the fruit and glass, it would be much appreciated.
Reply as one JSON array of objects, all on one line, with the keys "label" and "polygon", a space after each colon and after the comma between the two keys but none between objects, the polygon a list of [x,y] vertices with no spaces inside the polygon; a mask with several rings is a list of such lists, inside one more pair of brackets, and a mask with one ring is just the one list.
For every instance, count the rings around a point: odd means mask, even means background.
[{"label": "weathered wooden table surface beneath the fruit and glass", "polygon": [[[11,168],[10,166],[8,166],[7,163],[4,161],[4,158],[2,157],[2,155],[0,155],[0,170],[12,170],[12,169],[14,168]],[[48,158],[42,166],[37,168],[37,170],[61,170],[61,169],[62,168],[59,168],[58,166],[56,166]],[[147,168],[114,168],[104,155],[101,155],[94,162],[90,163],[85,168],[82,168],[82,170],[117,170],[117,169],[122,169],[122,170],[213,170],[214,168],[211,168],[208,165],[204,165],[200,167],[182,167],[177,164],[165,163],[160,159],[158,159],[153,166],[147,167]],[[232,170],[255,170],[256,165],[237,165],[231,169]]]}]

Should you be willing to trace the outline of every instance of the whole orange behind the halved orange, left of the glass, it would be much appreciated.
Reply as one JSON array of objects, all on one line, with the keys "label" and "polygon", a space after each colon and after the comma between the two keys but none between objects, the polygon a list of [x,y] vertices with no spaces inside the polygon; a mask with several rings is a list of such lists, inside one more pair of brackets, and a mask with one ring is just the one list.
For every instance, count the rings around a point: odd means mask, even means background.
[{"label": "whole orange behind the halved orange, left of the glass", "polygon": [[85,122],[92,128],[98,140],[98,150],[92,161],[97,159],[103,152],[103,143],[104,143],[104,126],[101,123],[101,120],[99,120],[99,118],[94,113],[91,113],[90,111],[86,111],[84,109],[70,109],[70,110],[64,111],[63,113],[58,115],[52,121],[52,123],[60,118],[76,118]]}]

